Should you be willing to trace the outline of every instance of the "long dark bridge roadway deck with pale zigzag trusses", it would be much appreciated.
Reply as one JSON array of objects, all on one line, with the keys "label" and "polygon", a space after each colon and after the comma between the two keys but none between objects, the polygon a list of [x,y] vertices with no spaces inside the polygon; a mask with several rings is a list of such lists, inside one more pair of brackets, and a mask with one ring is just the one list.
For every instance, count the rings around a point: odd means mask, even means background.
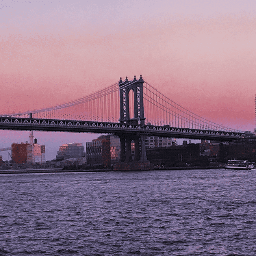
[{"label": "long dark bridge roadway deck with pale zigzag trusses", "polygon": [[182,139],[209,139],[215,141],[232,141],[243,132],[224,132],[200,130],[194,128],[174,128],[170,126],[152,126],[121,124],[115,122],[74,121],[59,119],[35,119],[20,117],[0,117],[0,130],[27,130],[47,132],[83,132],[95,134],[132,134]]}]

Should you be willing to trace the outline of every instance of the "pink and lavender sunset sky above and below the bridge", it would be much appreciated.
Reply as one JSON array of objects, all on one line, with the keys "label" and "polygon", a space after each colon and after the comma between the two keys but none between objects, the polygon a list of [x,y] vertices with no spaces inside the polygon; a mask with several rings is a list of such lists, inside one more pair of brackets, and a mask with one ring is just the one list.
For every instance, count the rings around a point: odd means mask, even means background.
[{"label": "pink and lavender sunset sky above and below the bridge", "polygon": [[[255,45],[255,0],[2,0],[0,113],[54,106],[142,74],[193,113],[253,130]],[[0,148],[28,134],[0,131]],[[35,134],[46,159],[63,143],[98,136]]]}]

